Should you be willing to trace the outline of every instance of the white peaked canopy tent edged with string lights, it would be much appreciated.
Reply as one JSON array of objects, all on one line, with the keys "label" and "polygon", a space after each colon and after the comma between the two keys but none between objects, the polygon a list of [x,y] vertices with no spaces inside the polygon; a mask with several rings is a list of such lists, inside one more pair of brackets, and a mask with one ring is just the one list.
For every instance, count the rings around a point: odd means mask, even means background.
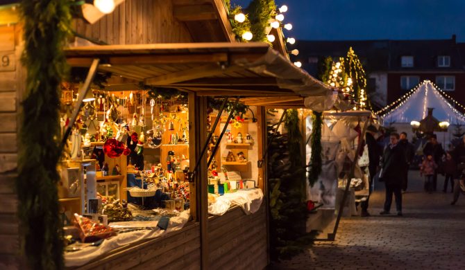
[{"label": "white peaked canopy tent edged with string lights", "polygon": [[439,91],[429,80],[421,82],[412,89],[405,100],[400,100],[394,109],[382,115],[384,125],[420,121],[427,116],[428,108],[434,108],[433,116],[439,122],[465,125],[464,114],[457,111]]}]

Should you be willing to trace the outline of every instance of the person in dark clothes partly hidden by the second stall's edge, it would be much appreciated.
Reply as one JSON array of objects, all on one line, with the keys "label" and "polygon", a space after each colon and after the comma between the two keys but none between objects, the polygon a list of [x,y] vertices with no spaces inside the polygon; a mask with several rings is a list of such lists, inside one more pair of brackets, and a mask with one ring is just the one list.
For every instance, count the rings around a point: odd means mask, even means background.
[{"label": "person in dark clothes partly hidden by the second stall's edge", "polygon": [[362,217],[369,217],[370,214],[368,213],[368,206],[369,206],[369,199],[373,186],[373,178],[375,177],[376,171],[378,169],[378,165],[380,164],[380,157],[382,154],[382,147],[378,144],[378,142],[375,139],[376,134],[378,133],[378,129],[376,129],[375,126],[370,125],[369,127],[366,128],[366,134],[365,134],[365,141],[366,145],[368,146],[368,159],[369,159],[369,165],[368,165],[368,170],[370,174],[369,178],[369,195],[366,197],[366,201],[362,201]]}]

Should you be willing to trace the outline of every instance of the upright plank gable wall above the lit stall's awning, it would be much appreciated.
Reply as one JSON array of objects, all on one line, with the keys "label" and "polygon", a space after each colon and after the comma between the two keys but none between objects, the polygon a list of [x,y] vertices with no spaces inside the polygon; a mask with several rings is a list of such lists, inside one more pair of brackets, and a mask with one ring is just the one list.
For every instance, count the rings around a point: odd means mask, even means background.
[{"label": "upright plank gable wall above the lit stall's awning", "polygon": [[185,24],[174,18],[169,0],[126,0],[95,24],[78,19],[74,27],[108,44],[193,42]]}]

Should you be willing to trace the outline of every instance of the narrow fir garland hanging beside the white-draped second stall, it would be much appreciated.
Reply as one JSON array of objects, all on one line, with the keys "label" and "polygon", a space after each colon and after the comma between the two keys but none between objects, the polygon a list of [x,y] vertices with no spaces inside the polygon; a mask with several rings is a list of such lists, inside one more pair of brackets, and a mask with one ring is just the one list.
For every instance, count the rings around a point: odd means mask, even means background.
[{"label": "narrow fir garland hanging beside the white-draped second stall", "polygon": [[312,156],[310,156],[310,170],[308,172],[308,183],[313,186],[321,173],[321,114],[313,111],[312,135],[310,143],[312,145]]}]

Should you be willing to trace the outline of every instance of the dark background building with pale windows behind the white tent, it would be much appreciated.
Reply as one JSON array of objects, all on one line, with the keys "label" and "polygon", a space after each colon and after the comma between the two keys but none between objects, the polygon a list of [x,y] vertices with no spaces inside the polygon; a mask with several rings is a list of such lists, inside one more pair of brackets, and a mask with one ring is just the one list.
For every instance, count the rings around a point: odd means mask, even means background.
[{"label": "dark background building with pale windows behind the white tent", "polygon": [[[376,107],[393,102],[423,80],[431,80],[465,103],[465,43],[450,39],[298,41],[296,60],[319,75],[325,57],[344,57],[352,46],[367,73],[369,98]],[[460,108],[457,108],[460,109]]]}]

